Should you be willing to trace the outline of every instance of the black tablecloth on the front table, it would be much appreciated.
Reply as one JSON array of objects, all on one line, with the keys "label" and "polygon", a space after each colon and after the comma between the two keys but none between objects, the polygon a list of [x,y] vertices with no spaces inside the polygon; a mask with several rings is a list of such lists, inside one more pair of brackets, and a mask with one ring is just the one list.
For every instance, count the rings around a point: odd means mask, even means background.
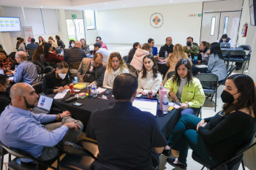
[{"label": "black tablecloth on the front table", "polygon": [[[82,89],[81,92],[86,93],[86,88]],[[80,93],[81,93],[80,92]],[[77,93],[75,93],[77,94]],[[50,94],[49,96],[54,97],[56,94]],[[64,98],[68,98],[70,93],[68,92]],[[99,94],[98,96],[102,96]],[[91,116],[91,112],[97,109],[105,109],[107,107],[113,106],[115,103],[115,98],[112,97],[112,93],[108,96],[109,100],[105,100],[102,98],[93,98],[93,97],[86,97],[86,98],[78,98],[76,101],[72,101],[70,103],[61,102],[63,99],[53,100],[53,106],[51,107],[51,113],[57,114],[68,110],[72,113],[72,117],[76,120],[80,120],[83,123],[83,132],[86,132],[86,127]],[[76,107],[72,104],[78,102],[83,104],[80,107]],[[157,122],[159,123],[159,127],[162,131],[162,134],[168,139],[173,128],[175,127],[178,120],[181,118],[181,109],[173,109],[172,112],[168,112],[166,115],[162,114],[162,111],[159,110],[159,104],[157,106]]]}]

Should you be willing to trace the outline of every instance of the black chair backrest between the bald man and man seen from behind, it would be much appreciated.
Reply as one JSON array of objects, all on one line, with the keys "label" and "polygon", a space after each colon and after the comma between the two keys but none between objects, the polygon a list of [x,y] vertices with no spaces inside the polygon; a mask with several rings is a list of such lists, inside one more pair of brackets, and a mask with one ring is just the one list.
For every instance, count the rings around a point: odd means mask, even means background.
[{"label": "black chair backrest between the bald man and man seen from behind", "polygon": [[57,144],[57,147],[59,147],[60,150],[66,153],[69,153],[71,155],[86,155],[86,156],[91,156],[91,158],[94,158],[94,160],[97,160],[94,154],[92,154],[89,150],[86,150],[85,148],[80,147],[78,144],[73,144],[72,142],[61,140],[61,142]]}]

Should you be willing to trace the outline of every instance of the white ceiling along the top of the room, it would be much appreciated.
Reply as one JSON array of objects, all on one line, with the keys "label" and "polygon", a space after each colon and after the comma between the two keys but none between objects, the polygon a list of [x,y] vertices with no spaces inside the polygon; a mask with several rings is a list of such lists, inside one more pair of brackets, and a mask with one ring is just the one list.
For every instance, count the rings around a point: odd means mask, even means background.
[{"label": "white ceiling along the top of the room", "polygon": [[184,4],[217,0],[0,0],[0,5],[10,7],[44,7],[46,9],[109,10],[131,7],[148,7],[166,4]]}]

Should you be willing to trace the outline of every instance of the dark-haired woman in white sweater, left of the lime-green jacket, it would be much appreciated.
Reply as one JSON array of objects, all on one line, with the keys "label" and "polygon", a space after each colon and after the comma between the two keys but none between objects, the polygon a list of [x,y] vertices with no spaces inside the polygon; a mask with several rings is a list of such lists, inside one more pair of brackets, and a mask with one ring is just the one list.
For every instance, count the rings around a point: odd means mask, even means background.
[{"label": "dark-haired woman in white sweater, left of the lime-green jacket", "polygon": [[162,75],[157,70],[157,63],[152,55],[143,58],[143,68],[138,77],[138,93],[147,95],[148,91],[157,94],[162,83]]}]

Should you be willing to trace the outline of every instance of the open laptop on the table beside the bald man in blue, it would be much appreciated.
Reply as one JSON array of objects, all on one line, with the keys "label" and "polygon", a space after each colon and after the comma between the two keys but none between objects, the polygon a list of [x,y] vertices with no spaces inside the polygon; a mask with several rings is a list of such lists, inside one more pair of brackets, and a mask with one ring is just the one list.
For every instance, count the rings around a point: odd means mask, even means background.
[{"label": "open laptop on the table beside the bald man in blue", "polygon": [[50,107],[53,104],[53,98],[45,95],[40,95],[37,107],[32,109],[32,112],[40,114],[48,114],[50,112]]}]

